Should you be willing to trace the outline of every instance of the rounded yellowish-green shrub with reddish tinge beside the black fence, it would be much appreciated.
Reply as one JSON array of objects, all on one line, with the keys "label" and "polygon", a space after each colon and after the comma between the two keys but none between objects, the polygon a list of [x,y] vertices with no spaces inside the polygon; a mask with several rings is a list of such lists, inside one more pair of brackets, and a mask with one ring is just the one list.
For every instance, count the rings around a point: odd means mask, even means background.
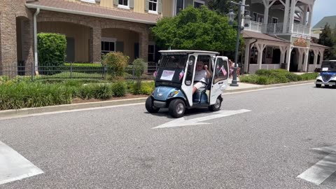
[{"label": "rounded yellowish-green shrub with reddish tinge beside the black fence", "polygon": [[109,52],[103,56],[102,64],[109,66],[109,74],[115,78],[123,76],[130,57],[123,55],[122,52]]}]

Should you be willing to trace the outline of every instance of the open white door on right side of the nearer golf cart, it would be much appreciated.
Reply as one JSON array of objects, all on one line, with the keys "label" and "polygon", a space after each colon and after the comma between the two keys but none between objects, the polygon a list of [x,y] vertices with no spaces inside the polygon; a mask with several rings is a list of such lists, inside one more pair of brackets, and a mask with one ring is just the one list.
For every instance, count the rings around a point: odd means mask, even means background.
[{"label": "open white door on right side of the nearer golf cart", "polygon": [[210,105],[216,103],[216,99],[228,87],[228,57],[216,57],[210,90]]}]

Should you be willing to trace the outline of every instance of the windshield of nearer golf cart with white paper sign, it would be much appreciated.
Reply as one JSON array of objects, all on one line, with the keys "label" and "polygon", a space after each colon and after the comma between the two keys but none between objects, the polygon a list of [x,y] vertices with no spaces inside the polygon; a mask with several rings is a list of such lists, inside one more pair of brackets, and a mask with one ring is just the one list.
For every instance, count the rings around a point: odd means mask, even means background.
[{"label": "windshield of nearer golf cart with white paper sign", "polygon": [[155,82],[157,85],[179,86],[182,83],[188,55],[162,55]]}]

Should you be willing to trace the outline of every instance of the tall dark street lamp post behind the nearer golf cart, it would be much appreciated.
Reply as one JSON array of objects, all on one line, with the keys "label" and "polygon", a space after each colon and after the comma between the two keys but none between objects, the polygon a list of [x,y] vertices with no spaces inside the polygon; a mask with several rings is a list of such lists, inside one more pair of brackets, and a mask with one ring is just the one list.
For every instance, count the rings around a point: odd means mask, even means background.
[{"label": "tall dark street lamp post behind the nearer golf cart", "polygon": [[[235,4],[238,6],[238,25],[237,25],[237,40],[236,40],[236,52],[235,52],[235,67],[233,68],[233,78],[232,78],[232,82],[230,84],[230,86],[232,87],[238,87],[238,82],[237,82],[237,67],[238,67],[238,52],[239,52],[239,37],[240,37],[240,32],[244,29],[244,27],[241,27],[241,7],[245,6],[247,7],[248,5],[245,5],[244,3],[242,3],[241,1],[239,1],[239,3],[235,3],[233,1],[231,1],[230,3]],[[235,13],[233,13],[233,10],[231,9],[230,12],[228,13],[228,17],[229,17],[229,25],[232,25],[233,20],[235,18]],[[245,18],[245,26],[246,23],[248,24],[248,22],[250,22],[250,16],[246,15]]]}]

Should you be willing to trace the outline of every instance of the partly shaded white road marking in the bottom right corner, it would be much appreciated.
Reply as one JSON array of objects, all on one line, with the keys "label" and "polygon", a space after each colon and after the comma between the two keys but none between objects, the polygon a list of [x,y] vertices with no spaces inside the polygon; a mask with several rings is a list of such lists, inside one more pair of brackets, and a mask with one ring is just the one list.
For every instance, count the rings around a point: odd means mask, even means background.
[{"label": "partly shaded white road marking in the bottom right corner", "polygon": [[313,150],[325,151],[330,154],[297,177],[320,185],[325,179],[328,179],[330,175],[336,172],[336,146],[314,148]]}]

